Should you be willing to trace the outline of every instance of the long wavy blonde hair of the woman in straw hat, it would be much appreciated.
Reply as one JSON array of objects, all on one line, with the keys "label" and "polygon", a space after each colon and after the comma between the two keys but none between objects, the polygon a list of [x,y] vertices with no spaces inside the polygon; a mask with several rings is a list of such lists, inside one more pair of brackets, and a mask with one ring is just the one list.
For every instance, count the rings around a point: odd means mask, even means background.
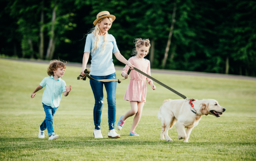
[{"label": "long wavy blonde hair of the woman in straw hat", "polygon": [[[110,22],[112,23],[113,20],[110,17],[106,17],[110,20]],[[102,22],[104,19],[106,18],[102,18],[100,21],[97,22],[97,24],[95,25],[94,28],[91,29],[91,33],[94,35],[95,37],[95,41],[94,41],[94,48],[92,49],[92,52],[95,52],[98,49],[98,42],[100,41],[100,28],[98,27],[98,23]],[[105,51],[105,46],[107,45],[107,36],[108,36],[108,32],[104,34],[103,38],[104,38],[104,43],[101,47],[101,52]]]}]

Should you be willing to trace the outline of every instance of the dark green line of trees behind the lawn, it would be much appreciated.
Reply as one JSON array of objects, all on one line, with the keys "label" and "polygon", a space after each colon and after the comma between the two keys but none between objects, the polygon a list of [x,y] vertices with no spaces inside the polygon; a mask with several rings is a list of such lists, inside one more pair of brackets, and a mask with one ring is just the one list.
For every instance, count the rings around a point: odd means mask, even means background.
[{"label": "dark green line of trees behind the lawn", "polygon": [[[148,38],[152,68],[255,76],[253,0],[1,0],[0,54],[81,62],[100,11],[127,59]],[[123,65],[114,58],[114,64]]]}]

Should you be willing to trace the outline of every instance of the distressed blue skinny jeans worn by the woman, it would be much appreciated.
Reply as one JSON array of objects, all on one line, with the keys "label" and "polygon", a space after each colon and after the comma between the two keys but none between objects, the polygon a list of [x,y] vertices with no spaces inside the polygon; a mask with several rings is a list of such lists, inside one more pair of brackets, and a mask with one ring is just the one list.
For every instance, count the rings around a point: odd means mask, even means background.
[{"label": "distressed blue skinny jeans worn by the woman", "polygon": [[[98,79],[116,79],[116,73],[107,76],[94,76],[92,78]],[[108,102],[108,130],[114,129],[114,123],[116,122],[116,86],[117,82],[101,82],[90,80],[92,92],[94,93],[95,105],[94,105],[94,125],[95,129],[100,130],[101,112],[103,108],[103,84],[107,91]]]}]

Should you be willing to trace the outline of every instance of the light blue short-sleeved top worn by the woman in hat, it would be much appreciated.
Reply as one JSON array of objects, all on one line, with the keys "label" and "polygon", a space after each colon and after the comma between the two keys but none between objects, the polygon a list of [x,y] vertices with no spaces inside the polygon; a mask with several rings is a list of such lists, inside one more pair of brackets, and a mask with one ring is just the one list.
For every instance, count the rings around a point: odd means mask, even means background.
[{"label": "light blue short-sleeved top worn by the woman in hat", "polygon": [[[88,34],[85,42],[84,52],[91,52],[94,48],[95,37],[93,34]],[[105,46],[105,51],[101,52],[101,47],[104,43],[103,35],[100,35],[100,41],[98,42],[98,48],[96,51],[91,52],[91,75],[94,76],[106,76],[116,72],[114,69],[114,63],[112,58],[112,53],[118,52],[116,39],[113,35],[108,34],[107,44]]]}]

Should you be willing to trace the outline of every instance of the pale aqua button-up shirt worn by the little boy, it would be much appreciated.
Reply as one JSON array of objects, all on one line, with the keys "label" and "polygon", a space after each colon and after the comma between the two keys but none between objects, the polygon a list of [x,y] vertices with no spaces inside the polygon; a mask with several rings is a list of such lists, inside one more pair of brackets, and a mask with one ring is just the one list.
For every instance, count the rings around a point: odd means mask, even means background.
[{"label": "pale aqua button-up shirt worn by the little boy", "polygon": [[40,86],[46,86],[43,93],[42,103],[52,108],[59,107],[62,93],[66,92],[65,81],[60,77],[55,80],[53,76],[48,76],[42,80]]}]

